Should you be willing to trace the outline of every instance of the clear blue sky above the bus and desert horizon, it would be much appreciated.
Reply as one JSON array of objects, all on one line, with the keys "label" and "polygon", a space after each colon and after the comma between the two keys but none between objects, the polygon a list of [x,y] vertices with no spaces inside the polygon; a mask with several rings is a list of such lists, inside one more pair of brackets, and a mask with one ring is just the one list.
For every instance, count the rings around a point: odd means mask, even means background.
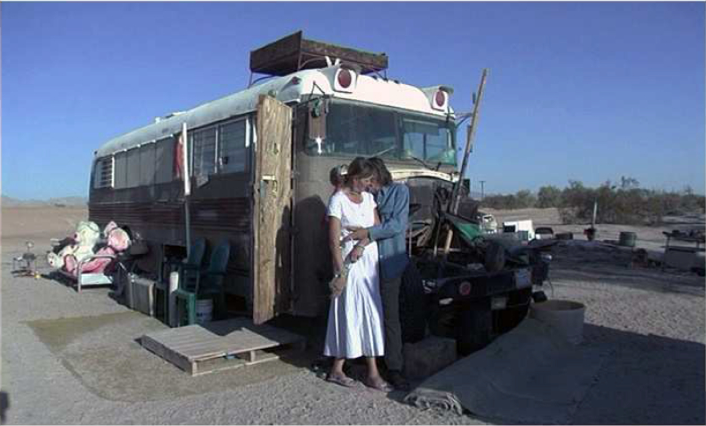
[{"label": "clear blue sky above the bus and desert horizon", "polygon": [[[490,69],[468,175],[486,192],[621,175],[704,192],[704,3],[2,3],[2,193],[87,196],[110,138],[245,88],[299,29],[454,87]],[[465,140],[465,131],[459,133]]]}]

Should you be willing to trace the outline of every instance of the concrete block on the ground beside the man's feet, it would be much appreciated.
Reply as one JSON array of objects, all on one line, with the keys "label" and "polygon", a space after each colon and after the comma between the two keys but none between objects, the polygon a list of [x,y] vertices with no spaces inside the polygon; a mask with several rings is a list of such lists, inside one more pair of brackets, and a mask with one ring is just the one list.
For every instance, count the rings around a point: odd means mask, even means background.
[{"label": "concrete block on the ground beside the man's feet", "polygon": [[429,336],[417,343],[405,343],[404,375],[425,379],[456,361],[456,340]]}]

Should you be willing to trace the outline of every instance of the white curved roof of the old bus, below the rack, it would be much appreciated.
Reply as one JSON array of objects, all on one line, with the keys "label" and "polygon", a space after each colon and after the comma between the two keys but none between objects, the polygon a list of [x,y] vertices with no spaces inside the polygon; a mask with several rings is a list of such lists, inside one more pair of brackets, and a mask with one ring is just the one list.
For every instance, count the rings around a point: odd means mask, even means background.
[{"label": "white curved roof of the old bus, below the rack", "polygon": [[[202,104],[185,112],[161,119],[106,142],[96,151],[96,157],[134,148],[144,143],[170,137],[181,132],[182,123],[194,129],[209,123],[242,116],[257,109],[260,95],[271,94],[284,103],[299,102],[307,95],[330,95],[333,98],[354,100],[412,112],[446,117],[447,112],[431,107],[428,93],[436,88],[420,89],[392,79],[358,75],[352,93],[335,91],[333,78],[339,66],[299,71],[284,77],[250,87],[232,95]],[[449,107],[448,114],[453,117]]]}]

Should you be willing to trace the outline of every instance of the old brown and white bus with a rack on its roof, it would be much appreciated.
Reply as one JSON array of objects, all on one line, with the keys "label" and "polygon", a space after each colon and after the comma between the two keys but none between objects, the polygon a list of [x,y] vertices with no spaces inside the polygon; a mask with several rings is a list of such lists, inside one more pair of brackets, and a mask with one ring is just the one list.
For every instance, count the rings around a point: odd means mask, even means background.
[{"label": "old brown and white bus with a rack on its roof", "polygon": [[253,51],[250,67],[268,79],[103,144],[90,220],[115,220],[147,242],[140,267],[154,274],[165,257],[184,255],[187,228],[210,247],[228,239],[229,308],[256,323],[279,313],[317,316],[328,308],[331,277],[330,169],[376,155],[412,189],[454,181],[452,91],[386,78],[384,54],[301,32]]}]

